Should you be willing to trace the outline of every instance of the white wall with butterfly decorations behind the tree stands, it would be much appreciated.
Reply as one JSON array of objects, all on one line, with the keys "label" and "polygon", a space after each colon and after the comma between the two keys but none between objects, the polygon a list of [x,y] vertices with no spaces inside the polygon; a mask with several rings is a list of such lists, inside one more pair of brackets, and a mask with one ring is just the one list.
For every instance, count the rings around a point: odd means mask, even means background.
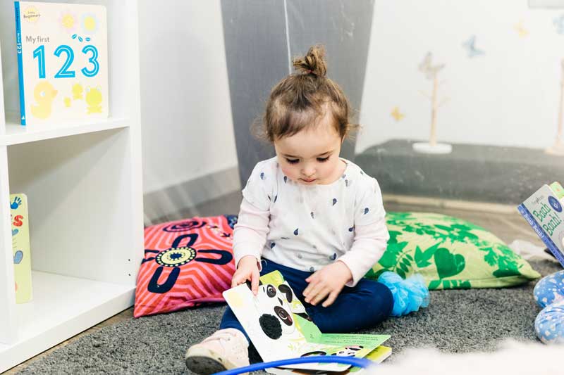
[{"label": "white wall with butterfly decorations behind the tree stands", "polygon": [[[439,141],[544,148],[556,137],[564,9],[530,9],[527,0],[376,0],[357,152],[388,139],[428,139],[431,92],[418,65],[427,51],[445,63]],[[522,21],[528,34],[515,29]],[[564,26],[564,24],[563,24]],[[476,35],[483,56],[462,44]],[[405,114],[396,122],[391,111]]]}]

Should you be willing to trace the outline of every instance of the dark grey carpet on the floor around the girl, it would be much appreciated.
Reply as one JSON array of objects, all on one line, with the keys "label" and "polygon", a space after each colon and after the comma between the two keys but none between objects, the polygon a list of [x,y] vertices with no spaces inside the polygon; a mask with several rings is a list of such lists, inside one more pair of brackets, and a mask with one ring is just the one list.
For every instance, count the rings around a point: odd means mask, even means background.
[{"label": "dark grey carpet on the floor around the girl", "polygon": [[[531,262],[541,274],[561,267]],[[387,333],[393,348],[433,346],[445,352],[491,351],[505,338],[537,341],[539,307],[534,283],[504,289],[431,292],[431,305],[407,317],[391,318],[361,333]],[[183,357],[191,343],[211,334],[224,305],[130,319],[106,326],[32,362],[18,374],[189,374]],[[256,352],[251,360],[257,361]],[[255,374],[262,374],[257,372]]]}]

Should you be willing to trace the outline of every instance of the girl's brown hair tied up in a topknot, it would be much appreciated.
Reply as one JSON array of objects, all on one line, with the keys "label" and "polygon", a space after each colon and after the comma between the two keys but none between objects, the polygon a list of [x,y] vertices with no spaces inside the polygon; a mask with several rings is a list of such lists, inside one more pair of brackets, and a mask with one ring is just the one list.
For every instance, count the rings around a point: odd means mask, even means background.
[{"label": "girl's brown hair tied up in a topknot", "polygon": [[357,128],[350,124],[350,103],[341,87],[325,77],[327,64],[325,49],[312,46],[303,58],[295,58],[298,72],[283,78],[274,86],[266,103],[266,111],[259,124],[259,136],[274,142],[317,125],[318,120],[331,111],[333,126],[344,139]]}]

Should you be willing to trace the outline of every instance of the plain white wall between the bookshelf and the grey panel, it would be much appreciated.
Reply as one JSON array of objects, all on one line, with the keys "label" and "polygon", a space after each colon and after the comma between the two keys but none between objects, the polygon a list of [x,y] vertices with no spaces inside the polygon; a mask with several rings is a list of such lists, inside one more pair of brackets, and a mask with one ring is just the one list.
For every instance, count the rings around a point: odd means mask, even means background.
[{"label": "plain white wall between the bookshelf and the grey panel", "polygon": [[139,16],[145,193],[235,168],[219,0],[142,0]]}]

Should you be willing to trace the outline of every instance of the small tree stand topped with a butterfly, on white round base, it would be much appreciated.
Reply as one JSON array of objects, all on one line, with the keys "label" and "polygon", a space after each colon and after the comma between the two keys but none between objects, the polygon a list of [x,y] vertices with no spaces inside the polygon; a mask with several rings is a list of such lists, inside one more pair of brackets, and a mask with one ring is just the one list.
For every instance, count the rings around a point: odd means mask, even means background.
[{"label": "small tree stand topped with a butterfly, on white round base", "polygon": [[433,93],[431,95],[422,92],[424,96],[429,98],[431,101],[431,133],[429,135],[429,143],[427,142],[416,142],[413,144],[413,149],[419,153],[450,153],[453,147],[450,144],[439,144],[436,141],[436,112],[443,106],[448,98],[444,98],[440,103],[437,99],[437,91],[439,86],[444,82],[439,83],[439,71],[445,67],[444,64],[441,65],[431,65],[431,52],[427,53],[423,62],[419,64],[419,70],[424,72],[427,80],[433,81]]}]

